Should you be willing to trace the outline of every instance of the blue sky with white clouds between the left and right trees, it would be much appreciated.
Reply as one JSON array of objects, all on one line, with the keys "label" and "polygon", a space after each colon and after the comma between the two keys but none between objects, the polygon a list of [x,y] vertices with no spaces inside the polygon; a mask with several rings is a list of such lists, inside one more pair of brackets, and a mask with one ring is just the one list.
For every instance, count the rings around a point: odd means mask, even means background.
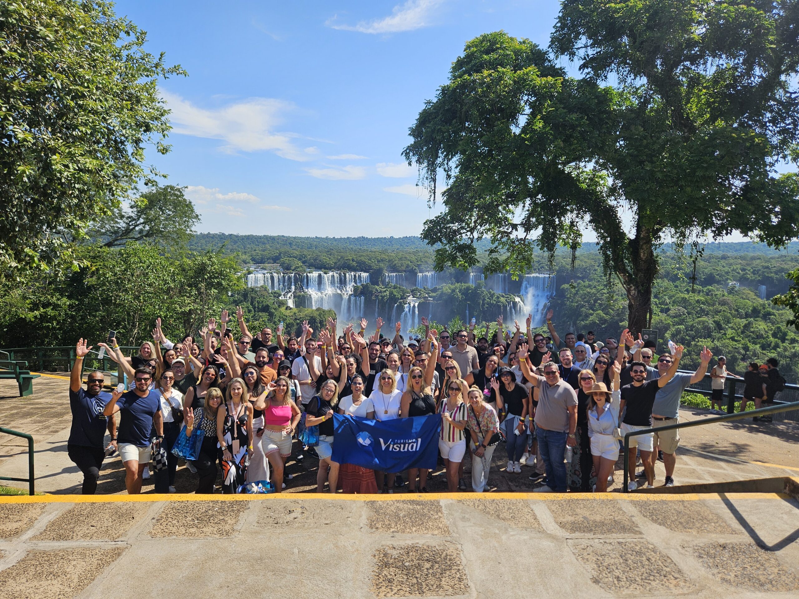
[{"label": "blue sky with white clouds between the left and right trees", "polygon": [[[408,128],[467,40],[546,45],[557,2],[117,2],[189,77],[161,84],[201,232],[419,235],[430,216]],[[435,210],[435,208],[434,208]]]}]

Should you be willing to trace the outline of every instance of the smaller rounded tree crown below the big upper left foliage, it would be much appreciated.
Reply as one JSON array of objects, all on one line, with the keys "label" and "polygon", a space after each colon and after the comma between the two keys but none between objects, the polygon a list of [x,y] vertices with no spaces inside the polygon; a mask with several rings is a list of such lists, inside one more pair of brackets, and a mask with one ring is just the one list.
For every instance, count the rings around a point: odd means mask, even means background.
[{"label": "smaller rounded tree crown below the big upper left foliage", "polygon": [[114,208],[93,226],[89,236],[108,248],[145,240],[167,248],[182,248],[200,220],[184,189],[176,185],[153,185],[131,199],[128,206]]}]

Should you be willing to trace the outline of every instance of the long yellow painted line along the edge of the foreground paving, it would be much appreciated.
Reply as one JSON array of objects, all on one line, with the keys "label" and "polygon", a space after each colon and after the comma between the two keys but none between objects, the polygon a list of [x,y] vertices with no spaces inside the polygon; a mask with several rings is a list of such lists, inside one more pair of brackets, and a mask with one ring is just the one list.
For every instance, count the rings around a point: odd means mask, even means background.
[{"label": "long yellow painted line along the edge of the foreground paving", "polygon": [[283,493],[283,494],[141,494],[141,495],[6,495],[0,496],[0,503],[117,503],[117,502],[241,502],[272,501],[276,499],[323,500],[336,502],[388,502],[388,501],[441,501],[450,499],[528,499],[537,501],[570,501],[576,499],[606,499],[610,501],[698,501],[717,499],[788,499],[784,493],[425,493],[425,494],[330,494],[330,493]]}]

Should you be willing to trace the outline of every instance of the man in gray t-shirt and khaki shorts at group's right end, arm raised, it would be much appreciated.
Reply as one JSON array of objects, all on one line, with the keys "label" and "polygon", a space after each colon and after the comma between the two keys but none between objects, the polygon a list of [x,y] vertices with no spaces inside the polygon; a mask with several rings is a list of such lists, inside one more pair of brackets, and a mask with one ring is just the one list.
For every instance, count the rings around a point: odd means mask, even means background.
[{"label": "man in gray t-shirt and khaki shorts at group's right end, arm raised", "polygon": [[[677,424],[679,422],[680,414],[680,398],[682,391],[691,384],[698,383],[705,378],[707,373],[707,365],[713,359],[713,352],[707,347],[702,349],[699,355],[701,360],[697,371],[693,375],[687,373],[678,373],[666,383],[663,387],[658,389],[658,394],[654,396],[654,405],[652,406],[652,426],[669,426],[670,424]],[[666,374],[671,366],[671,355],[663,354],[658,358],[658,373],[662,376]],[[666,468],[666,484],[665,486],[674,486],[674,465],[677,458],[674,452],[680,444],[680,435],[678,429],[666,430],[665,432],[654,434],[654,448],[663,452],[663,466]],[[652,452],[652,465],[658,459],[658,452]]]}]

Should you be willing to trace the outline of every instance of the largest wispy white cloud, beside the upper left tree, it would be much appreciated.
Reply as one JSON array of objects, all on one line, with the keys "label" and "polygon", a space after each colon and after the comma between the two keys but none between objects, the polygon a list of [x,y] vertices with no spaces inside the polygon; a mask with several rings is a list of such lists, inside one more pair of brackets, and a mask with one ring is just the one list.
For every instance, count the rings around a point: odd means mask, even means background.
[{"label": "largest wispy white cloud, beside the upper left tree", "polygon": [[296,133],[275,131],[286,113],[295,110],[290,102],[252,97],[219,109],[202,109],[188,100],[161,90],[172,113],[173,133],[225,141],[225,152],[274,152],[280,157],[305,161],[315,149],[296,146]]}]

